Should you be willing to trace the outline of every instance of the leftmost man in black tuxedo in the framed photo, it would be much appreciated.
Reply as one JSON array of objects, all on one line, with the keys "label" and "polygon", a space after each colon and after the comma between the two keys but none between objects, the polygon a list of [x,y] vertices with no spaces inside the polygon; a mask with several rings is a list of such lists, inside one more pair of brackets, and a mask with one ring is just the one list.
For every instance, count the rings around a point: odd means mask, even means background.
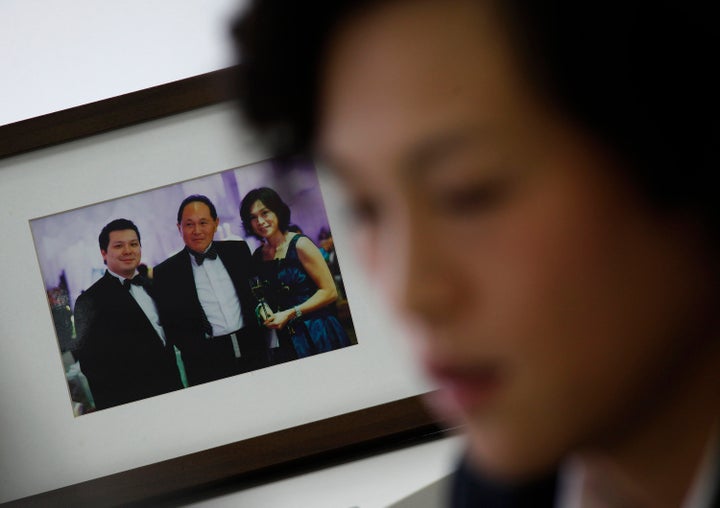
[{"label": "leftmost man in black tuxedo in the framed photo", "polygon": [[77,357],[96,409],[182,388],[150,280],[138,273],[140,232],[116,219],[99,236],[105,275],[75,302]]}]

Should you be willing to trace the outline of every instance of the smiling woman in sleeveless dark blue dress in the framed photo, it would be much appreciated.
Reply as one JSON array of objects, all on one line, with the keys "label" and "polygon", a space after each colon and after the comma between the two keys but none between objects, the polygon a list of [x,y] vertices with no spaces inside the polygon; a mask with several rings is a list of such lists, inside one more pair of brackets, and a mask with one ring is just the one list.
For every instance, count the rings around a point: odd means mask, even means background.
[{"label": "smiling woman in sleeveless dark blue dress in the framed photo", "polygon": [[338,294],[330,269],[312,240],[288,230],[290,208],[278,193],[268,187],[250,191],[240,218],[246,233],[263,242],[253,260],[272,310],[263,324],[278,334],[275,360],[349,346],[335,315]]}]

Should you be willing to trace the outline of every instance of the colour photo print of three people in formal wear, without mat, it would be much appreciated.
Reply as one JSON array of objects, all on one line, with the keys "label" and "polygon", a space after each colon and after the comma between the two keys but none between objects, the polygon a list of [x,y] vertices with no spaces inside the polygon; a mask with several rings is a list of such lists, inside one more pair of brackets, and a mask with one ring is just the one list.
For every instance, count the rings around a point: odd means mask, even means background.
[{"label": "colour photo print of three people in formal wear, without mat", "polygon": [[30,228],[75,416],[357,344],[308,161],[233,168]]}]

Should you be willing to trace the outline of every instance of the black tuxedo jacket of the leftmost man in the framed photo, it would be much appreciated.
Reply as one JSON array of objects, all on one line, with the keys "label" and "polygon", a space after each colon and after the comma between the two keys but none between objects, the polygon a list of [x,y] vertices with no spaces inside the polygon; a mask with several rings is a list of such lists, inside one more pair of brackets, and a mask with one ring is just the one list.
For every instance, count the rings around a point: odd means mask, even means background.
[{"label": "black tuxedo jacket of the leftmost man in the framed photo", "polygon": [[75,328],[80,370],[97,409],[182,388],[173,348],[110,273],[78,297]]}]

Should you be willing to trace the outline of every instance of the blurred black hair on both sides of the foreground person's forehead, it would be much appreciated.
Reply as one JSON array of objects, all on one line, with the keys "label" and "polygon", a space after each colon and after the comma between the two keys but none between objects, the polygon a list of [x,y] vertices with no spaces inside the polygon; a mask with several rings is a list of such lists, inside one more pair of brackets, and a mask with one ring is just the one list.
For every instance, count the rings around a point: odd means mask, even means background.
[{"label": "blurred black hair on both sides of the foreground person's forehead", "polygon": [[[477,1],[497,6],[527,79],[622,157],[655,204],[720,224],[712,2]],[[376,3],[254,0],[235,23],[240,106],[274,153],[311,151],[327,46],[341,23]]]}]

